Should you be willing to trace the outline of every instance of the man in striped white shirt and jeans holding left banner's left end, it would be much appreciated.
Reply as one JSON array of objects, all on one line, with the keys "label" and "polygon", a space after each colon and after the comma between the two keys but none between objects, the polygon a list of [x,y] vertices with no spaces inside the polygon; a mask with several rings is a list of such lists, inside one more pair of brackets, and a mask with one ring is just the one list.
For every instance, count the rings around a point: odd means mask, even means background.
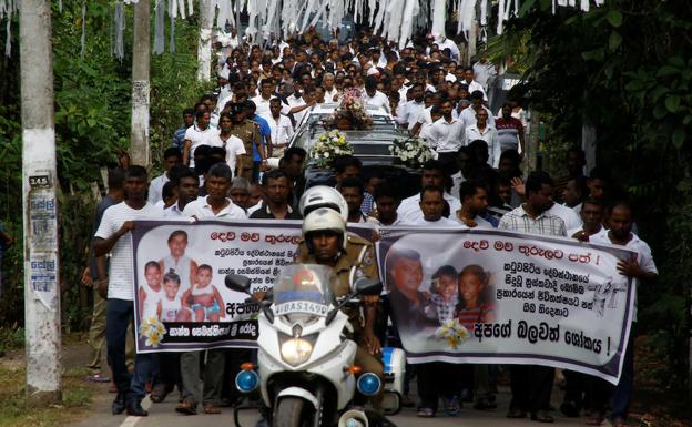
[{"label": "man in striped white shirt and jeans holding left banner's left end", "polygon": [[[99,292],[108,292],[105,339],[113,383],[118,387],[118,395],[111,406],[114,415],[122,414],[125,409],[128,415],[147,415],[141,401],[145,396],[144,386],[151,376],[152,355],[136,355],[132,380],[125,365],[128,324],[134,312],[134,267],[130,232],[134,228],[134,220],[161,216],[161,211],[146,202],[146,170],[142,166],[128,169],[125,200],[105,210],[93,243],[95,256],[111,254],[108,274],[105,271],[99,272],[99,277],[108,277],[108,284],[99,284]],[[105,264],[100,265],[104,266]]]}]

